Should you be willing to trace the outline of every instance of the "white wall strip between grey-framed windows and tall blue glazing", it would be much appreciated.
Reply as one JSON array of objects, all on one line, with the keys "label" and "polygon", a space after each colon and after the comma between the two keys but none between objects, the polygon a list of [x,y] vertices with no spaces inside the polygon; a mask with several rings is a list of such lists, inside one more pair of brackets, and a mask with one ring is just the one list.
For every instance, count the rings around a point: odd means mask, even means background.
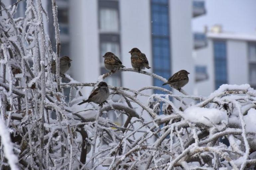
[{"label": "white wall strip between grey-framed windows and tall blue glazing", "polygon": [[[149,66],[152,67],[151,54],[151,17],[150,1],[119,1],[121,21],[121,55],[123,65],[131,66],[131,54],[128,53],[133,47],[139,48],[146,54]],[[145,71],[152,72],[153,69]],[[139,89],[143,86],[152,85],[152,78],[135,72],[122,72],[124,87]]]}]

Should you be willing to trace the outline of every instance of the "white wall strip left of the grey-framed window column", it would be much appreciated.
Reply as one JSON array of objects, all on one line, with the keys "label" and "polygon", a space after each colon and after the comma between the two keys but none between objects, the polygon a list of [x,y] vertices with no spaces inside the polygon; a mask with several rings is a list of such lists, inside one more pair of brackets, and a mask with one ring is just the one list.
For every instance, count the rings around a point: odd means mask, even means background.
[{"label": "white wall strip left of the grey-framed window column", "polygon": [[97,1],[69,1],[71,71],[79,82],[96,82],[100,74],[97,8]]}]

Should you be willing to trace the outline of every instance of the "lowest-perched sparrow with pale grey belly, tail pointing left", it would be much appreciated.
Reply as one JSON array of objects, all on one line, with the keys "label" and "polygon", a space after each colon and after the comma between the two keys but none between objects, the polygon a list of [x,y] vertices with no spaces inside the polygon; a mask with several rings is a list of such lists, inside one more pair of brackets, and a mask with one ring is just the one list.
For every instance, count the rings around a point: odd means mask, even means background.
[{"label": "lowest-perched sparrow with pale grey belly, tail pointing left", "polygon": [[106,99],[109,96],[108,85],[105,82],[99,82],[98,87],[92,91],[87,100],[78,103],[81,105],[83,103],[94,102],[102,106],[103,103],[107,102]]}]

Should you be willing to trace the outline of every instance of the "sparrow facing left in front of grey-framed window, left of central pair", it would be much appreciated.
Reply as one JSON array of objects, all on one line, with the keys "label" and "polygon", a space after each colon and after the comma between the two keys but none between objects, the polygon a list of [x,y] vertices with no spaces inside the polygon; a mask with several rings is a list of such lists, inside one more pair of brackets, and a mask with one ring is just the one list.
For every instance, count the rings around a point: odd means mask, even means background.
[{"label": "sparrow facing left in front of grey-framed window, left of central pair", "polygon": [[113,53],[107,52],[104,56],[105,68],[109,71],[115,72],[117,69],[124,68],[120,59]]}]

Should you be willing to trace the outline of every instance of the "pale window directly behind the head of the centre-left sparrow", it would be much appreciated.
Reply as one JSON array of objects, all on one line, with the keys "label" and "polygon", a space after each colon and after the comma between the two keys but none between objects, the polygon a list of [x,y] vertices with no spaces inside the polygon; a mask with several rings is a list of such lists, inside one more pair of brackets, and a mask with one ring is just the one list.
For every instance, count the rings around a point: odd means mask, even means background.
[{"label": "pale window directly behind the head of the centre-left sparrow", "polygon": [[[100,44],[100,56],[101,56],[101,66],[104,67],[104,58],[102,56],[104,56],[104,54],[106,52],[112,52],[114,53],[117,57],[120,58],[120,48],[119,48],[119,43],[115,43],[115,42],[102,42]],[[120,58],[121,60],[121,58]]]}]

